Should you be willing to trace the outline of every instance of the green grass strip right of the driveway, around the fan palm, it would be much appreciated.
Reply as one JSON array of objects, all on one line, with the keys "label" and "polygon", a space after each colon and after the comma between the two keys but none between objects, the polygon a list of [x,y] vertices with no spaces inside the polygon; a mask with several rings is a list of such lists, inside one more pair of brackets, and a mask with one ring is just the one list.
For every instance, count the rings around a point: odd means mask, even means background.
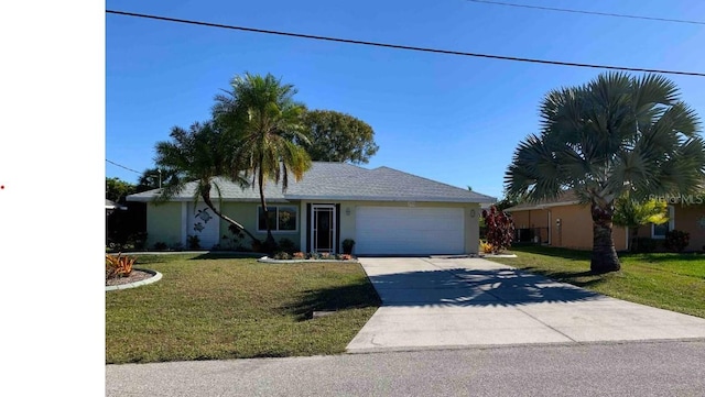
[{"label": "green grass strip right of the driveway, around the fan palm", "polygon": [[705,255],[697,253],[619,255],[621,271],[590,274],[590,252],[514,246],[516,258],[495,258],[618,299],[705,318]]}]

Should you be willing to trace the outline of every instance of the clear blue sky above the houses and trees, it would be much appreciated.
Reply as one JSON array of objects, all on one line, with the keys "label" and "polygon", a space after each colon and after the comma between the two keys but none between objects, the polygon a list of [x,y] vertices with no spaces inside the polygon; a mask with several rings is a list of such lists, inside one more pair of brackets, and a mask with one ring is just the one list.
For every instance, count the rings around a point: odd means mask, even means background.
[{"label": "clear blue sky above the houses and trees", "polygon": [[[705,20],[705,3],[514,0],[517,3]],[[471,53],[705,71],[705,25],[562,13],[463,0],[117,1],[107,9]],[[142,172],[172,126],[209,118],[245,71],[293,84],[311,109],[369,123],[389,166],[495,197],[518,143],[538,131],[551,89],[600,69],[273,36],[107,14],[106,158]],[[705,78],[668,76],[705,115]],[[106,176],[139,174],[105,164]]]}]

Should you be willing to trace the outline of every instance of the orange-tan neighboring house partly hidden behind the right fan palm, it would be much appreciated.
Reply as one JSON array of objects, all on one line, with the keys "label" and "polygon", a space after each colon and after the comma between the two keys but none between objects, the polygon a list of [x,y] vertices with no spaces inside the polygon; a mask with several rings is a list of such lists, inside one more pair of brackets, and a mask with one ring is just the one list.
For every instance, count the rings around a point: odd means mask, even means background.
[{"label": "orange-tan neighboring house partly hidden behind the right fan palm", "polygon": [[[691,233],[687,251],[701,251],[705,244],[705,205],[702,200],[674,200],[665,198],[669,222],[639,228],[639,238],[664,240],[669,230]],[[522,203],[506,210],[511,213],[517,230],[517,241],[536,242],[567,249],[592,250],[593,218],[587,205],[581,205],[572,191],[552,200]],[[629,231],[615,225],[612,239],[618,251],[628,250]]]}]

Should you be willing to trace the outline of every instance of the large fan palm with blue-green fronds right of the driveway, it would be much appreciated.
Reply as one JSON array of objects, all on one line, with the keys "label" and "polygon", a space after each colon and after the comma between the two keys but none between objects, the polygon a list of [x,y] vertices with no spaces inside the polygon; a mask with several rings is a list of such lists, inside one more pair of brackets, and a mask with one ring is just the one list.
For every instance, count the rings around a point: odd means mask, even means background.
[{"label": "large fan palm with blue-green fronds right of the driveway", "polygon": [[621,73],[552,90],[540,109],[541,133],[516,150],[505,176],[507,190],[538,201],[574,189],[593,218],[590,269],[618,271],[615,199],[697,188],[705,167],[697,115],[666,78]]}]

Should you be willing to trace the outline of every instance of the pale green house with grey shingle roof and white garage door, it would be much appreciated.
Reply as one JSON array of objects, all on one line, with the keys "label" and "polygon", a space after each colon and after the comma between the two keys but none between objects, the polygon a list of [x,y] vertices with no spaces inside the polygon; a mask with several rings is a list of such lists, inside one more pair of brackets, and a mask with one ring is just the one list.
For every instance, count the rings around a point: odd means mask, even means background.
[{"label": "pale green house with grey shingle roof and white garage door", "polygon": [[[267,229],[257,186],[240,188],[218,180],[224,214],[264,240]],[[148,202],[148,246],[163,242],[186,246],[197,235],[202,247],[221,243],[228,223],[203,201],[194,203],[195,183],[169,202],[151,201],[159,190],[128,196]],[[314,162],[301,181],[289,188],[264,185],[276,239],[286,238],[305,252],[339,253],[354,239],[358,255],[465,254],[478,251],[480,205],[495,198],[388,167],[366,169],[345,163]]]}]

